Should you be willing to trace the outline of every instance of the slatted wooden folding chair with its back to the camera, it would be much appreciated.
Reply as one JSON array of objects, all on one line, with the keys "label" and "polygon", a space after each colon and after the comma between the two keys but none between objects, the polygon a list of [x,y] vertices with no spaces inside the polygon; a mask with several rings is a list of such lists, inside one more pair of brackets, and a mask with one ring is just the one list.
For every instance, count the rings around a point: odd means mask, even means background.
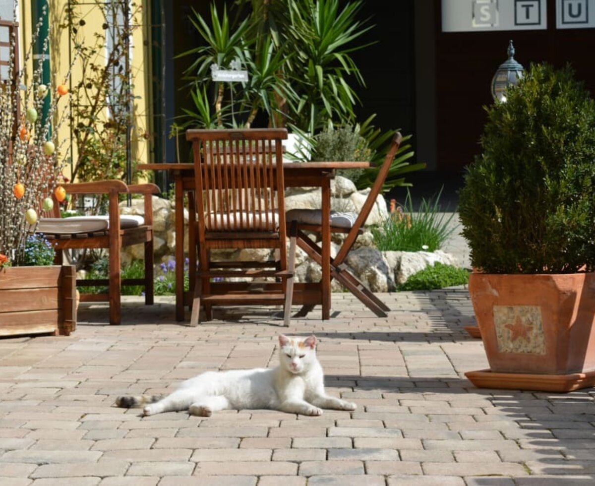
[{"label": "slatted wooden folding chair with its back to the camera", "polygon": [[[198,324],[201,304],[209,320],[213,305],[291,302],[281,146],[286,138],[284,128],[186,132],[195,164],[199,262],[190,325]],[[274,249],[279,257],[267,262],[211,258],[211,250],[226,248]],[[267,277],[275,281],[253,280]],[[234,281],[223,281],[229,278]]]}]

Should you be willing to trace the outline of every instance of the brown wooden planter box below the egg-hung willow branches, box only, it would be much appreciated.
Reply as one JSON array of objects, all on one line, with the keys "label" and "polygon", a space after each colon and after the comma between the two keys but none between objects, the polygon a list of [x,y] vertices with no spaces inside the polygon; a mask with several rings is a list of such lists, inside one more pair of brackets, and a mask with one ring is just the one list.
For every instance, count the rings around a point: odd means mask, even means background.
[{"label": "brown wooden planter box below the egg-hung willow branches, box only", "polygon": [[8,266],[0,269],[0,337],[76,329],[74,265]]}]

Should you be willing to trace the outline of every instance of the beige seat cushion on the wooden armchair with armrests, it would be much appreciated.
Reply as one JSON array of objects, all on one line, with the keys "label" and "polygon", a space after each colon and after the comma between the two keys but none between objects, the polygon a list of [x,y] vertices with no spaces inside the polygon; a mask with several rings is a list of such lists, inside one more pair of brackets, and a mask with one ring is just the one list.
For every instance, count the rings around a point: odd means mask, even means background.
[{"label": "beige seat cushion on the wooden armchair with armrests", "polygon": [[[121,215],[120,228],[136,228],[145,223],[142,216]],[[74,216],[72,218],[43,218],[39,221],[37,233],[46,234],[78,234],[96,233],[109,229],[107,216]]]}]

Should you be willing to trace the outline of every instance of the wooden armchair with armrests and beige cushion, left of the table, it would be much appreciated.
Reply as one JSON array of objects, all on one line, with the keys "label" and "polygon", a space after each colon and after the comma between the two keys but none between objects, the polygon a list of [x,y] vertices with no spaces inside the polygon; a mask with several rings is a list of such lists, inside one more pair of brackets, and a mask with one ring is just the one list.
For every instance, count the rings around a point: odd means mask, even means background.
[{"label": "wooden armchair with armrests and beige cushion, left of the table", "polygon": [[[145,286],[145,303],[153,303],[153,208],[151,195],[159,192],[155,184],[134,184],[127,186],[119,180],[62,184],[68,194],[107,194],[109,214],[60,218],[58,201],[54,198],[54,209],[42,218],[36,231],[43,233],[55,246],[55,263],[62,264],[62,250],[106,248],[109,252],[109,278],[96,280],[77,279],[77,286],[107,286],[107,294],[81,294],[81,301],[109,302],[109,324],[120,324],[120,296],[123,285]],[[145,217],[120,215],[118,195],[142,194],[145,198]],[[145,245],[145,277],[122,279],[120,274],[120,251],[132,244]]]}]

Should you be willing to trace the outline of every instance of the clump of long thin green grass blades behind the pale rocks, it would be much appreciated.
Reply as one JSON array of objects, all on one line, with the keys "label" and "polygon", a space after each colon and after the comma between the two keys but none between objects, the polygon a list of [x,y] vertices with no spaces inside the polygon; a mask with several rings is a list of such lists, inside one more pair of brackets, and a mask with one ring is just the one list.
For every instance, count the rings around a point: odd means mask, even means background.
[{"label": "clump of long thin green grass blades behind the pale rocks", "polygon": [[405,204],[390,214],[383,224],[372,228],[374,244],[380,251],[433,252],[440,249],[455,230],[450,226],[454,213],[441,212],[442,190],[430,199],[422,199],[419,211],[414,212],[411,194],[407,191]]}]

